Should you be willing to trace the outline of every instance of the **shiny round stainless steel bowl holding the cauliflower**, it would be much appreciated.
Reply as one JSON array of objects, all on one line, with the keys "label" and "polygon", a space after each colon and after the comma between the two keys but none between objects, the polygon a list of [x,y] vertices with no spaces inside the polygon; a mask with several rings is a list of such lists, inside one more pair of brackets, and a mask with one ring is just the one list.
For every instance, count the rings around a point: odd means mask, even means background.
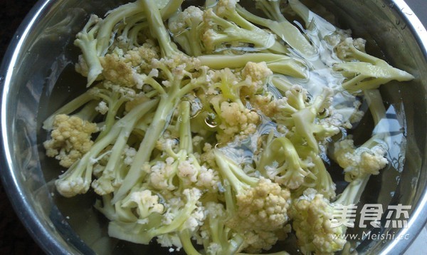
[{"label": "shiny round stainless steel bowl holding the cauliflower", "polygon": [[[2,181],[23,224],[49,254],[149,250],[107,237],[105,220],[93,209],[93,196],[63,199],[56,195],[52,180],[59,170],[41,146],[46,139],[41,122],[85,84],[73,73],[75,33],[88,14],[104,14],[117,4],[120,1],[39,1],[1,66]],[[370,182],[364,196],[364,201],[385,206],[411,205],[408,228],[380,229],[409,238],[363,241],[357,247],[359,253],[401,254],[427,219],[427,32],[403,0],[325,0],[322,4],[336,14],[339,24],[378,46],[378,53],[384,53],[393,66],[416,76],[411,83],[381,90],[403,116],[406,160],[402,172],[383,173]],[[396,160],[403,164],[402,159]]]}]

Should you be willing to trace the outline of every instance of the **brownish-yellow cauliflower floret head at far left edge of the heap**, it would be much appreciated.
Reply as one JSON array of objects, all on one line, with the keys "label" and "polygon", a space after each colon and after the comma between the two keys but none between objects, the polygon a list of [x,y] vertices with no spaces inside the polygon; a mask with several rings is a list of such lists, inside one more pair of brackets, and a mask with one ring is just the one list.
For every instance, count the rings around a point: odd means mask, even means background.
[{"label": "brownish-yellow cauliflower floret head at far left edge of the heap", "polygon": [[91,135],[97,125],[77,116],[60,114],[55,116],[51,140],[43,142],[48,157],[55,157],[63,167],[70,167],[90,150]]}]

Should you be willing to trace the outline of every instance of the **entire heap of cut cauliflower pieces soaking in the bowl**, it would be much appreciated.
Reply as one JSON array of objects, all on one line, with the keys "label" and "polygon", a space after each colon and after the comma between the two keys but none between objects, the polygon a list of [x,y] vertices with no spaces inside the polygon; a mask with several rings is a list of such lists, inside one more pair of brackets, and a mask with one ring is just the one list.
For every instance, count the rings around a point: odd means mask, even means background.
[{"label": "entire heap of cut cauliflower pieces soaking in the bowl", "polygon": [[[183,2],[123,4],[76,35],[92,88],[43,122],[46,155],[68,168],[56,189],[91,188],[109,236],[170,252],[265,253],[291,223],[303,253],[341,250],[334,210],[359,202],[394,146],[376,88],[413,76],[299,0]],[[364,100],[376,126],[355,147]]]}]

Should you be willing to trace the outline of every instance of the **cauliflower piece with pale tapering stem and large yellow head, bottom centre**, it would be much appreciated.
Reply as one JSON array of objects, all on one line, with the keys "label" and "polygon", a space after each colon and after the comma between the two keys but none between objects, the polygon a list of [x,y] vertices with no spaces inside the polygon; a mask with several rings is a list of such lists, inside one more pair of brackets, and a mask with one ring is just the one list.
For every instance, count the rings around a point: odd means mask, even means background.
[{"label": "cauliflower piece with pale tapering stem and large yellow head, bottom centre", "polygon": [[235,208],[229,222],[232,228],[275,231],[288,222],[288,189],[269,179],[248,177],[222,152],[216,152],[215,159],[224,182],[228,182],[236,192],[236,204],[226,200],[227,207]]}]

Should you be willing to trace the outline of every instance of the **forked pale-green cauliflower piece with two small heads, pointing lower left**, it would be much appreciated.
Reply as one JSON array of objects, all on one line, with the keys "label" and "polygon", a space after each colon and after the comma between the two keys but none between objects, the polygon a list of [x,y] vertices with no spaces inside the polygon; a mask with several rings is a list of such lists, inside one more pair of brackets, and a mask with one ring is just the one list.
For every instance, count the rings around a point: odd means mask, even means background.
[{"label": "forked pale-green cauliflower piece with two small heads, pointing lower left", "polygon": [[[124,171],[123,168],[126,167],[120,159],[126,148],[130,130],[135,128],[137,120],[142,118],[156,103],[156,100],[151,100],[138,105],[137,108],[114,123],[104,137],[100,138],[102,133],[98,135],[98,139],[90,147],[90,150],[56,179],[55,184],[58,192],[64,197],[73,197],[76,194],[88,192],[94,170],[97,170],[99,180],[97,179],[93,187],[96,187],[95,191],[99,192],[98,194],[110,194],[115,191],[115,187],[121,187],[123,175],[127,171]],[[112,147],[110,147],[111,145]],[[110,150],[106,151],[107,148]],[[96,167],[98,162],[102,161],[101,159],[107,154],[109,154],[109,158],[105,167]]]}]

